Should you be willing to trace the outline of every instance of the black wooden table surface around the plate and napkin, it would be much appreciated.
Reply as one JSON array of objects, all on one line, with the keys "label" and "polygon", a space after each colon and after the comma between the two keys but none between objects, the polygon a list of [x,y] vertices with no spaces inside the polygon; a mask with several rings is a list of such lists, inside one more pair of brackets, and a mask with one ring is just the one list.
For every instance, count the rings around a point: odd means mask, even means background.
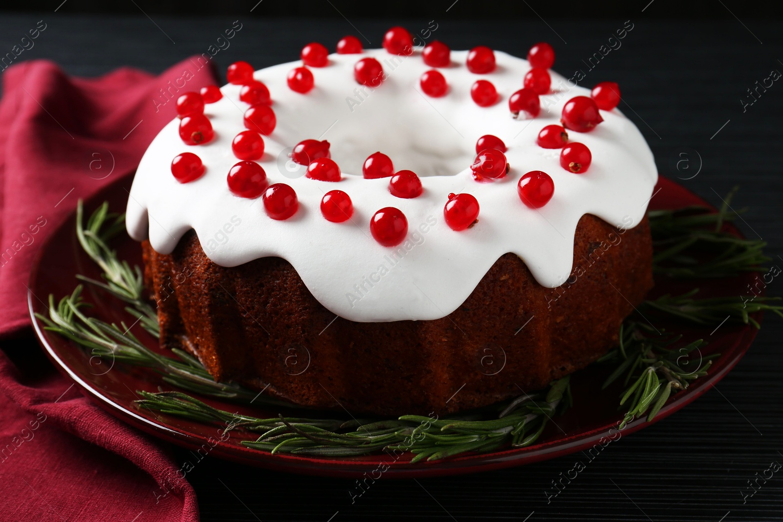
[{"label": "black wooden table surface around the plate and napkin", "polygon": [[[240,34],[215,56],[225,70],[236,59],[255,67],[294,60],[308,41],[331,48],[357,31],[374,47],[393,24],[415,30],[429,21],[368,21],[356,13],[344,13],[350,21],[260,20],[250,16],[253,3],[233,16],[153,16],[154,21],[141,14],[70,16],[53,8],[3,15],[0,51],[11,49],[42,19],[45,32],[20,59],[54,59],[68,73],[84,76],[122,65],[160,72],[206,52],[233,20],[240,20]],[[558,72],[570,76],[582,69],[587,86],[619,82],[630,103],[620,108],[648,139],[662,175],[690,178],[701,166],[695,178],[682,183],[716,204],[741,185],[733,206],[748,211],[740,228],[769,242],[774,262],[783,266],[778,257],[783,254],[783,85],[774,82],[757,99],[748,92],[770,71],[783,72],[780,23],[745,19],[747,9],[735,11],[742,21],[653,20],[650,13],[661,8],[651,4],[643,13],[646,3],[609,21],[544,22],[531,15],[469,23],[449,20],[444,12],[436,17],[437,38],[453,49],[483,44],[516,56],[525,56],[535,41],[550,41]],[[724,7],[718,2],[705,9]],[[756,8],[752,13],[763,16]],[[622,46],[587,67],[626,20],[633,29]],[[783,283],[776,279],[768,290],[783,295]],[[379,481],[354,504],[348,495],[352,481],[269,473],[210,458],[188,478],[203,520],[783,520],[783,475],[774,475],[746,502],[742,497],[756,473],[774,461],[783,463],[781,337],[783,323],[767,316],[749,354],[716,389],[665,421],[622,437],[548,504],[544,490],[573,466],[573,457],[462,477]]]}]

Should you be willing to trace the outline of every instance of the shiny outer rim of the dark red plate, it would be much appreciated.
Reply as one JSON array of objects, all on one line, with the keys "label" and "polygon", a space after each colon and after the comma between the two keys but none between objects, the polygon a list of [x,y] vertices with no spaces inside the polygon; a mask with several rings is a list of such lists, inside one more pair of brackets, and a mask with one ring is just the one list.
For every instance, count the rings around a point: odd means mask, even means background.
[{"label": "shiny outer rim of the dark red plate", "polygon": [[[105,193],[109,193],[115,190],[117,185],[121,185],[123,182],[127,182],[131,179],[133,173],[129,175],[117,178],[114,182],[105,185],[102,189],[99,189],[96,193],[85,200],[85,203],[95,203]],[[666,185],[676,186],[678,190],[686,192],[691,198],[700,201],[702,204],[715,208],[708,202],[702,199],[702,197],[693,193],[690,189],[687,189],[680,183],[677,183],[669,178],[659,176],[659,185],[665,187]],[[57,351],[49,343],[49,333],[45,331],[41,321],[35,316],[36,313],[36,301],[41,301],[38,296],[33,292],[34,283],[41,271],[41,262],[43,261],[43,253],[49,243],[54,240],[55,237],[60,236],[65,231],[67,225],[71,221],[74,221],[76,209],[67,214],[60,223],[38,248],[34,260],[31,264],[31,272],[27,285],[27,308],[31,316],[32,326],[35,332],[35,336],[38,339],[38,344],[44,348],[46,355],[52,363],[60,370],[63,375],[67,376],[74,383],[78,384],[78,387],[82,394],[90,398],[92,401],[103,408],[106,412],[109,412],[115,418],[122,422],[130,424],[139,430],[142,430],[146,434],[150,434],[153,437],[161,438],[174,445],[179,445],[189,449],[200,448],[207,441],[208,437],[204,437],[201,434],[194,434],[185,430],[178,430],[174,427],[166,425],[164,422],[157,419],[153,419],[147,416],[140,415],[139,412],[127,409],[123,405],[118,404],[108,395],[103,394],[99,387],[96,387],[93,383],[83,379],[74,369],[70,368],[60,357],[59,351]],[[741,232],[740,236],[743,236]],[[743,236],[744,237],[744,236]],[[43,303],[43,301],[41,301]],[[46,305],[44,304],[45,308]],[[763,313],[754,315],[759,323],[763,318]],[[742,328],[742,333],[736,337],[734,343],[731,344],[731,351],[736,351],[734,357],[731,360],[725,362],[720,370],[716,373],[708,374],[705,377],[696,380],[694,384],[689,387],[685,392],[680,392],[675,395],[673,399],[670,399],[659,411],[655,419],[648,422],[646,417],[633,419],[627,424],[622,431],[619,431],[622,436],[632,434],[643,427],[650,426],[654,423],[665,419],[669,415],[677,412],[685,406],[691,404],[697,398],[701,397],[716,383],[718,383],[724,376],[734,369],[734,366],[742,359],[745,353],[748,351],[752,341],[755,339],[758,329],[752,325],[746,325]],[[56,335],[56,334],[54,334]],[[72,344],[72,341],[64,340],[67,344]],[[75,347],[75,345],[74,345]],[[81,347],[77,347],[78,350],[83,350]],[[215,399],[215,398],[212,398]],[[220,401],[219,399],[215,399]],[[458,455],[450,459],[444,459],[435,463],[409,463],[407,461],[393,461],[390,460],[387,455],[383,454],[371,454],[366,455],[366,459],[377,457],[377,465],[373,464],[375,460],[352,460],[352,459],[323,459],[318,457],[311,457],[307,455],[290,455],[290,454],[276,454],[272,455],[269,452],[263,452],[253,448],[244,448],[239,445],[230,444],[226,441],[218,441],[213,447],[211,454],[223,459],[232,460],[237,463],[243,463],[246,465],[260,466],[269,470],[280,470],[290,473],[304,473],[316,476],[325,477],[362,477],[363,473],[370,470],[377,470],[377,466],[383,463],[389,465],[387,470],[384,470],[384,475],[395,478],[408,478],[408,477],[439,477],[446,475],[456,475],[463,473],[477,473],[480,471],[500,470],[512,466],[521,466],[527,463],[536,463],[546,459],[552,459],[561,455],[568,455],[573,452],[578,452],[586,448],[593,447],[597,442],[601,441],[604,437],[607,437],[611,430],[616,427],[618,423],[610,423],[601,427],[596,427],[592,430],[582,431],[579,434],[568,435],[563,437],[557,437],[554,440],[546,441],[538,445],[532,445],[527,448],[503,448],[494,452],[488,453],[469,453],[466,455]],[[206,424],[205,424],[206,425]],[[612,439],[615,440],[615,439]],[[219,448],[219,449],[218,449]],[[217,451],[216,451],[217,450]],[[373,468],[373,466],[375,466]]]}]

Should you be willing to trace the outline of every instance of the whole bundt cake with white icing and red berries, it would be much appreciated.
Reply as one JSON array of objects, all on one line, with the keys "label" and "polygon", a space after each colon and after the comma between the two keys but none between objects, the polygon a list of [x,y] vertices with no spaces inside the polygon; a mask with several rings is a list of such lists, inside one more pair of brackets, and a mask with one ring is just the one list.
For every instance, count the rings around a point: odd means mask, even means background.
[{"label": "whole bundt cake with white icing and red berries", "polygon": [[181,93],[127,211],[162,346],[297,405],[442,415],[616,343],[653,284],[657,181],[619,88],[550,71],[547,44],[420,40]]}]

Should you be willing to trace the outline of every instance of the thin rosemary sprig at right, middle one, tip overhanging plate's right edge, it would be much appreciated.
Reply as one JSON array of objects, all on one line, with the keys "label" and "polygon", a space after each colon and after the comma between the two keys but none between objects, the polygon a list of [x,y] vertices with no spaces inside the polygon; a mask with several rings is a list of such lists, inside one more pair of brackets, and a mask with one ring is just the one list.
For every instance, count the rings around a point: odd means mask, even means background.
[{"label": "thin rosemary sprig at right, middle one, tip overhanging plate's right edge", "polygon": [[644,301],[643,306],[662,311],[699,325],[718,325],[723,320],[752,324],[760,328],[758,322],[749,314],[756,311],[771,311],[783,317],[783,306],[770,304],[781,301],[780,297],[734,296],[694,299],[698,288],[679,296],[668,293],[652,301]]}]

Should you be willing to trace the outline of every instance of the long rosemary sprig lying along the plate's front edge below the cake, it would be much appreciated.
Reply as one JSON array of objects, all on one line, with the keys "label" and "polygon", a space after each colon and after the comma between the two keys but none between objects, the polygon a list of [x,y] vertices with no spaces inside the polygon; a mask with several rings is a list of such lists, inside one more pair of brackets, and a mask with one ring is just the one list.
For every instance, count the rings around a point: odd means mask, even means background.
[{"label": "long rosemary sprig lying along the plate's front edge below the cake", "polygon": [[[531,445],[540,437],[547,419],[568,404],[566,376],[549,387],[543,401],[525,395],[511,401],[494,419],[475,416],[437,417],[406,415],[397,419],[348,422],[337,419],[259,419],[212,408],[176,391],[139,391],[140,408],[205,423],[228,424],[260,432],[247,448],[294,455],[356,456],[373,452],[411,452],[411,463],[444,459],[464,452],[487,452],[502,445]],[[564,400],[565,399],[565,400]]]}]

